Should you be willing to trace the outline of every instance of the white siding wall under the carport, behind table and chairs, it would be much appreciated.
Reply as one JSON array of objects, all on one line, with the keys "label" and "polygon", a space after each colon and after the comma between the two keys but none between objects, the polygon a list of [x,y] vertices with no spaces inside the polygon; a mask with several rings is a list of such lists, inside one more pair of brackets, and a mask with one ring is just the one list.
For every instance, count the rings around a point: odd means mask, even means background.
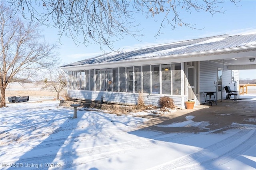
[{"label": "white siding wall under the carport, behind table and chairs", "polygon": [[[226,91],[224,87],[229,85],[230,88],[233,90],[234,85],[236,84],[239,87],[239,82],[235,83],[232,81],[232,70],[228,70],[228,66],[222,65],[220,63],[215,63],[212,61],[200,61],[200,73],[199,73],[199,81],[200,81],[200,88],[199,88],[199,102],[200,104],[204,103],[205,101],[205,94],[204,91],[216,91],[217,81],[217,73],[218,68],[222,69],[222,99],[226,98]],[[239,72],[238,70],[233,70],[235,79],[238,79]],[[215,97],[221,99],[221,93],[218,91],[218,94]],[[207,97],[208,98],[208,97]]]}]

